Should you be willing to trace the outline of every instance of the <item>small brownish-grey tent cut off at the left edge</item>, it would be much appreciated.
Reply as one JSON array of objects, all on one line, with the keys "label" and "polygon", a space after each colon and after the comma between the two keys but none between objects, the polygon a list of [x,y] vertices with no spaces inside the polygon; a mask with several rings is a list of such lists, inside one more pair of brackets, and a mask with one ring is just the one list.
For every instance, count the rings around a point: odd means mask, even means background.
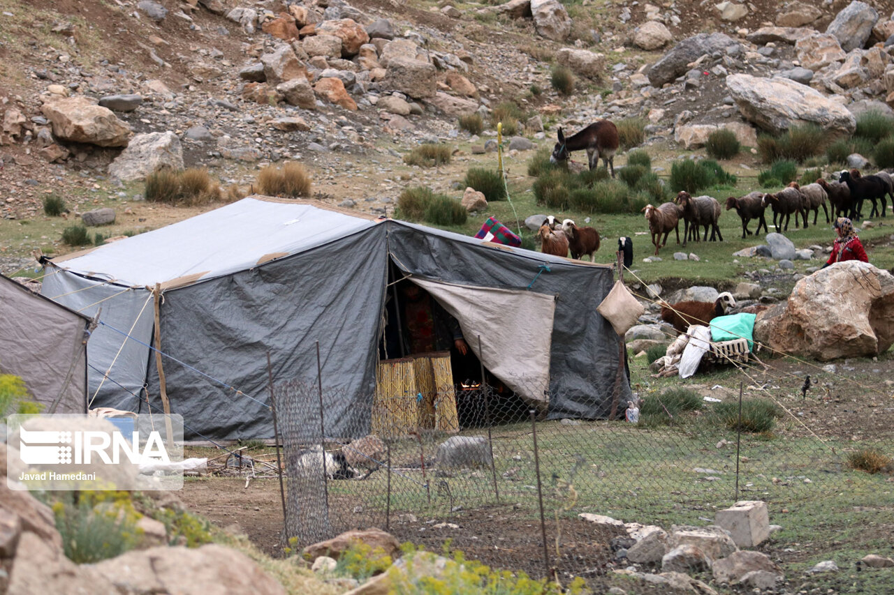
[{"label": "small brownish-grey tent cut off at the left edge", "polygon": [[86,413],[89,323],[0,275],[0,373],[19,376],[44,413]]}]

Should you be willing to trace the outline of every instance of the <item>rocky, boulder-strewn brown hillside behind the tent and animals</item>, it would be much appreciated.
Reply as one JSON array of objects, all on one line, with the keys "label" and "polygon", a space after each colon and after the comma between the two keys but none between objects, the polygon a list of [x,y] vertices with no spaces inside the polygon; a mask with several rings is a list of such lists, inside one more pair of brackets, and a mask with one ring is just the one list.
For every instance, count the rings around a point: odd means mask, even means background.
[{"label": "rocky, boulder-strewn brown hillside behind the tent and animals", "polygon": [[[402,151],[468,140],[460,114],[510,100],[535,140],[632,116],[682,148],[717,126],[751,147],[758,128],[848,132],[894,103],[891,4],[0,0],[0,214],[35,217],[50,192],[76,210],[139,197],[161,164],[248,189],[284,160],[325,180],[318,197],[381,212]],[[66,249],[43,240],[0,249]]]}]

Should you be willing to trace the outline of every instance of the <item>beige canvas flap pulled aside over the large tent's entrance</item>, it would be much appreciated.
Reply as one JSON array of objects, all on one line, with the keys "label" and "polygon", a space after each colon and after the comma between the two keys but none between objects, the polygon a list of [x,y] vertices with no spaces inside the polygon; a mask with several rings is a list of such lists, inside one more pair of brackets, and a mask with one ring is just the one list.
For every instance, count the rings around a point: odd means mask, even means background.
[{"label": "beige canvas flap pulled aside over the large tent's entrance", "polygon": [[529,402],[548,402],[554,297],[418,277],[409,280],[457,319],[469,348],[494,376]]}]

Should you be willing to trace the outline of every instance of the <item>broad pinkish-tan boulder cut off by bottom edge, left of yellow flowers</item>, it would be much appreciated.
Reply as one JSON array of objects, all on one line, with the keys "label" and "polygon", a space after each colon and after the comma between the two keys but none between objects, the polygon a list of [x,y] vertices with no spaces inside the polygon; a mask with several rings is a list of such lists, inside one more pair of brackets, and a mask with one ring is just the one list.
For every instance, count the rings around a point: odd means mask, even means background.
[{"label": "broad pinkish-tan boulder cut off by bottom edge, left of yellow flowers", "polygon": [[[182,595],[207,595],[210,592],[285,595],[286,592],[283,585],[266,574],[257,562],[235,549],[215,543],[195,549],[181,546],[129,551],[88,567],[100,574],[103,584],[114,585],[112,589],[92,592]],[[221,588],[209,589],[209,585],[220,585]]]}]

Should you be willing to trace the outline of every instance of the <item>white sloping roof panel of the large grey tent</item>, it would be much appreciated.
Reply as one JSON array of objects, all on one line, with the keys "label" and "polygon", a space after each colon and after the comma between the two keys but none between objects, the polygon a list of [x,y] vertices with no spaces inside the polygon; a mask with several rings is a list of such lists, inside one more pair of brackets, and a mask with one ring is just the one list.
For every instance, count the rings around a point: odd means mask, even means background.
[{"label": "white sloping roof panel of the large grey tent", "polygon": [[159,230],[56,258],[72,272],[167,287],[244,271],[375,225],[316,201],[248,197]]}]

